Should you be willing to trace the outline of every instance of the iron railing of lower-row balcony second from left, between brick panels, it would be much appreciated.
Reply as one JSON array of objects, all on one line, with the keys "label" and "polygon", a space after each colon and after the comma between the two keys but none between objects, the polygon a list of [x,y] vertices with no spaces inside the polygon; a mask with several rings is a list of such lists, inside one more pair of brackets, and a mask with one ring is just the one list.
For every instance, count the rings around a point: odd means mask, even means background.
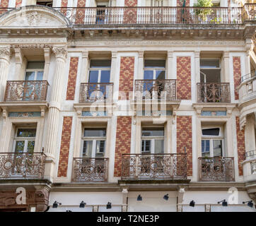
[{"label": "iron railing of lower-row balcony second from left, between brick panels", "polygon": [[107,182],[108,158],[74,157],[73,182]]}]

